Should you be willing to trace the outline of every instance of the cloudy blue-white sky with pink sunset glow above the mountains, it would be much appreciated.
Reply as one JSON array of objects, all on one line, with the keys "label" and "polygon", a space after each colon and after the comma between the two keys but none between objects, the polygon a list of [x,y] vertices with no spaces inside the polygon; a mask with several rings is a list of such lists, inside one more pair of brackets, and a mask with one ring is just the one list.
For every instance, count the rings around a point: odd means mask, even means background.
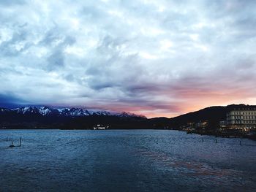
[{"label": "cloudy blue-white sky with pink sunset glow above the mountains", "polygon": [[1,0],[0,105],[173,117],[256,103],[256,1]]}]

